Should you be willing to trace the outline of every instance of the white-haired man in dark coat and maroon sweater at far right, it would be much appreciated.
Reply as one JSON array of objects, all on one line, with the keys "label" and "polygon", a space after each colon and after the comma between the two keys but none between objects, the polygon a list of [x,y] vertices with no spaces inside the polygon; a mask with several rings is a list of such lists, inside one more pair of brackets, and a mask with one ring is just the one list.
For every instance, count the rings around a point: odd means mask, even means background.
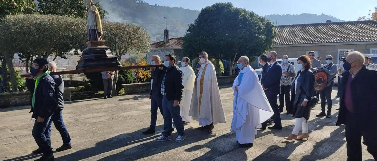
[{"label": "white-haired man in dark coat and maroon sweater at far right", "polygon": [[361,161],[361,137],[368,152],[377,159],[377,71],[364,65],[360,52],[351,52],[343,67],[339,117],[336,125],[346,125],[347,160]]}]

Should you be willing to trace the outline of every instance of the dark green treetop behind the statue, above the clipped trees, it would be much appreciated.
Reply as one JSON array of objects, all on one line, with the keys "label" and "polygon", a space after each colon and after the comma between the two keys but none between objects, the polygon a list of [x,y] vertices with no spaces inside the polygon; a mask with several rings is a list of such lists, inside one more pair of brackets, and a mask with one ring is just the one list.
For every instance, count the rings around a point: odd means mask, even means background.
[{"label": "dark green treetop behind the statue, above the clipped trees", "polygon": [[[100,12],[101,18],[106,19],[109,12],[104,10],[98,2],[94,5]],[[44,15],[86,18],[88,9],[85,0],[38,0],[38,10]]]}]

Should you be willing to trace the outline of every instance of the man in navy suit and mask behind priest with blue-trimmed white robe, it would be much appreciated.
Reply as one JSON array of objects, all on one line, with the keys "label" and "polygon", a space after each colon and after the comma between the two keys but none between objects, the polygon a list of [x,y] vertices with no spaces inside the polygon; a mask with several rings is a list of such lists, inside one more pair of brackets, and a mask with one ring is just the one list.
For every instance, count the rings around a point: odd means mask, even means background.
[{"label": "man in navy suit and mask behind priest with blue-trimmed white robe", "polygon": [[[280,93],[280,79],[282,77],[282,67],[276,61],[277,53],[271,51],[267,54],[268,65],[266,76],[262,79],[262,87],[267,96],[268,102],[270,102],[271,108],[274,111],[272,119],[275,125],[268,127],[269,129],[282,129],[282,122],[280,118],[279,105],[277,105],[277,95]],[[263,128],[263,125],[262,125]]]}]

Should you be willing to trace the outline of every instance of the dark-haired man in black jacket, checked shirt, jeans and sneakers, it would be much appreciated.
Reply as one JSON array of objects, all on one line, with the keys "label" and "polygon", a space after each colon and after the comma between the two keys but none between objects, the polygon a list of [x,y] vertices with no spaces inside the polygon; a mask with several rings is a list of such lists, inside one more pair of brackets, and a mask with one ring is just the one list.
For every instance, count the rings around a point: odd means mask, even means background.
[{"label": "dark-haired man in black jacket, checked shirt, jeans and sneakers", "polygon": [[186,139],[183,128],[182,117],[179,110],[179,101],[182,99],[183,92],[183,73],[175,65],[175,56],[170,54],[165,56],[164,66],[159,67],[162,70],[160,74],[161,95],[162,95],[162,108],[164,116],[164,132],[157,141],[169,141],[172,134],[172,118],[177,128],[178,137],[175,142],[181,142]]}]

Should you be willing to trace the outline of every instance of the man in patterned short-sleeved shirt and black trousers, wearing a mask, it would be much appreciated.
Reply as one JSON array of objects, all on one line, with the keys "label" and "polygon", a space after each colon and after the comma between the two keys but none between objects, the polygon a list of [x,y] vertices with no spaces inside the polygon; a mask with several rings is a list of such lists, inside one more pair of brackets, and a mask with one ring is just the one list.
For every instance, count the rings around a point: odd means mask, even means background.
[{"label": "man in patterned short-sleeved shirt and black trousers, wearing a mask", "polygon": [[283,55],[283,63],[281,66],[282,77],[280,79],[279,109],[280,112],[283,112],[285,96],[285,107],[287,108],[288,115],[293,113],[292,109],[290,108],[290,91],[292,87],[292,77],[296,77],[296,70],[294,69],[294,65],[288,62],[288,55]]}]

